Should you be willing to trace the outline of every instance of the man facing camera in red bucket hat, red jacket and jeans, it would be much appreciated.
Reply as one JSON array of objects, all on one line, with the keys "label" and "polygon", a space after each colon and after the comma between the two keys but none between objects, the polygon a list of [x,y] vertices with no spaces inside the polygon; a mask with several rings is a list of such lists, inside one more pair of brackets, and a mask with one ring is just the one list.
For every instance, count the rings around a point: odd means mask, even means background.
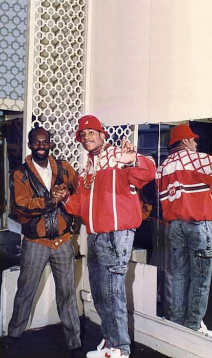
[{"label": "man facing camera in red bucket hat, red jacket and jeans", "polygon": [[[125,275],[135,229],[142,221],[136,188],[155,178],[153,158],[137,154],[123,138],[122,147],[105,143],[108,134],[94,116],[79,120],[76,139],[88,150],[86,168],[79,176],[76,194],[53,189],[65,209],[82,218],[88,233],[88,269],[91,294],[101,318],[103,340],[87,358],[130,354]],[[68,199],[67,199],[68,198]]]}]

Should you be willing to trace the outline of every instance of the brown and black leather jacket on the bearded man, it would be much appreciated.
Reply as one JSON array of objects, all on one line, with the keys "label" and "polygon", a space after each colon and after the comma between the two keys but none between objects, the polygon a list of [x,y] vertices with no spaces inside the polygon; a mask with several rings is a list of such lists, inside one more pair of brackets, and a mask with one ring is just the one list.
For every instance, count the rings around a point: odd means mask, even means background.
[{"label": "brown and black leather jacket on the bearded man", "polygon": [[[40,178],[32,161],[26,157],[24,164],[10,175],[9,184],[22,234],[29,239],[54,240],[70,232],[72,216],[64,209],[62,203],[52,203],[43,180]],[[77,174],[65,160],[54,160],[49,156],[52,168],[51,187],[65,182],[72,194],[77,184]]]}]

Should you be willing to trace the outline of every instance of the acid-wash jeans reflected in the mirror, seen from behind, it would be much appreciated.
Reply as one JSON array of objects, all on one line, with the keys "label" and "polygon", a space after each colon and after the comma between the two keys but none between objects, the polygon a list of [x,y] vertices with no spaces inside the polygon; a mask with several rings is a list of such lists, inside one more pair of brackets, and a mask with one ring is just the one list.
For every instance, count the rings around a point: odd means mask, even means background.
[{"label": "acid-wash jeans reflected in the mirror, seen from behind", "polygon": [[172,321],[198,330],[204,317],[212,273],[212,221],[171,222]]}]

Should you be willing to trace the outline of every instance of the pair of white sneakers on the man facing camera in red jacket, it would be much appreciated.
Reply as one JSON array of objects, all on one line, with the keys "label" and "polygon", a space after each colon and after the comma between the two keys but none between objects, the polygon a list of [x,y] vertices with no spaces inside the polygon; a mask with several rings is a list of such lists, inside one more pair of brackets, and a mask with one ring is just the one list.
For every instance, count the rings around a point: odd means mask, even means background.
[{"label": "pair of white sneakers on the man facing camera in red jacket", "polygon": [[128,355],[121,355],[121,351],[118,348],[107,348],[105,347],[105,340],[103,340],[98,344],[97,350],[92,350],[87,352],[87,358],[129,358]]}]

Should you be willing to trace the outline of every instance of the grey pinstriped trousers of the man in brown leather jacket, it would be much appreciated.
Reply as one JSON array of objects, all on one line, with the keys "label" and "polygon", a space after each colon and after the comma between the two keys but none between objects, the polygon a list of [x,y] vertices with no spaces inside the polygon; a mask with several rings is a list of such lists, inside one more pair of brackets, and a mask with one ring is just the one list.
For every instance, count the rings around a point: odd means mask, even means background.
[{"label": "grey pinstriped trousers of the man in brown leather jacket", "polygon": [[69,349],[81,346],[74,285],[74,257],[74,248],[70,240],[57,250],[23,240],[17,292],[12,318],[8,325],[9,335],[20,337],[25,331],[40,277],[49,261],[56,287],[57,311],[65,332],[66,343]]}]

